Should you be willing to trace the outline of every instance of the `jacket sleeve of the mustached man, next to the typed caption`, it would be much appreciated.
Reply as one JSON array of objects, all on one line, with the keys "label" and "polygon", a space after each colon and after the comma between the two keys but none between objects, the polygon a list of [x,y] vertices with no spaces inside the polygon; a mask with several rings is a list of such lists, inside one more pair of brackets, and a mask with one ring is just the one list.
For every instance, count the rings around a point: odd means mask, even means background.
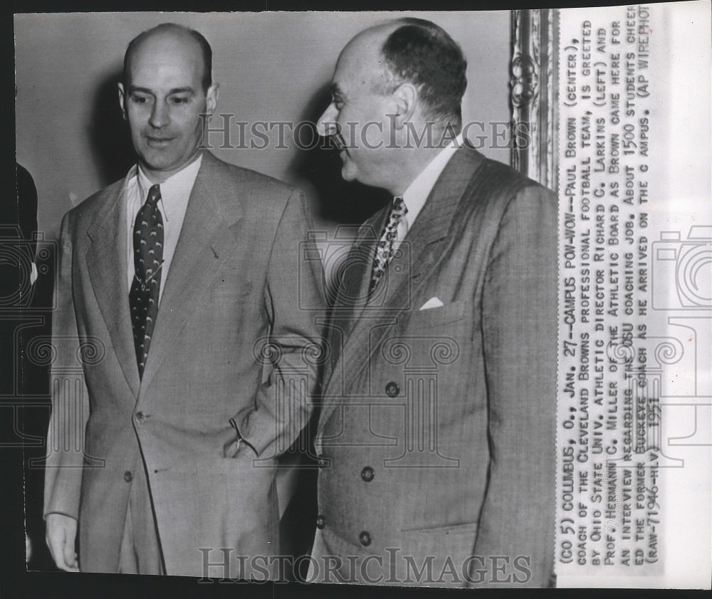
[{"label": "jacket sleeve of the mustached man, next to the typed caption", "polygon": [[490,463],[474,555],[506,558],[515,587],[546,586],[553,571],[556,223],[554,194],[520,191],[503,213],[483,288]]}]

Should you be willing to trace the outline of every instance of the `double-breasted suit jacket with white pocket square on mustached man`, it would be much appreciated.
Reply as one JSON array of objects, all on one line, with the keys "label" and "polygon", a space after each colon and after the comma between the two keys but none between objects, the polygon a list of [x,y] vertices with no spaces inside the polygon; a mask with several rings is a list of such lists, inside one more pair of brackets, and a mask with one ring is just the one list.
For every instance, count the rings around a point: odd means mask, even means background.
[{"label": "double-breasted suit jacket with white pocket square on mustached man", "polygon": [[311,574],[337,581],[325,556],[339,556],[347,581],[546,585],[556,198],[462,147],[367,300],[386,218],[360,228],[340,269]]}]

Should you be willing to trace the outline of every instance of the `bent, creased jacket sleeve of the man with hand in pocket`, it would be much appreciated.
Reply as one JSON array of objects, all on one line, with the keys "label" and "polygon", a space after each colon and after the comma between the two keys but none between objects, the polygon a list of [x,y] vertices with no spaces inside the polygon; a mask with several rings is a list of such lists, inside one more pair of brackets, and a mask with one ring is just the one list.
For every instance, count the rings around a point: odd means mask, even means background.
[{"label": "bent, creased jacket sleeve of the man with hand in pocket", "polygon": [[298,191],[290,196],[274,238],[265,302],[270,338],[261,357],[271,374],[259,389],[255,410],[236,416],[239,435],[259,457],[285,452],[305,428],[323,364],[322,263]]}]

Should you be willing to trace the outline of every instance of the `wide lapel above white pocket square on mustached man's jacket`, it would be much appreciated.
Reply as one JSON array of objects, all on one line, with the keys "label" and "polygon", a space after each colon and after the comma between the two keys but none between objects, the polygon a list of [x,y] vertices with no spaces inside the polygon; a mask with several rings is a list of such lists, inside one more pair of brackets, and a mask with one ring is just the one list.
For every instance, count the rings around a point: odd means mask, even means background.
[{"label": "wide lapel above white pocket square on mustached man's jacket", "polygon": [[[473,173],[483,157],[471,148],[459,149],[450,159],[436,181],[421,213],[404,242],[401,255],[394,256],[387,272],[387,284],[382,303],[370,304],[353,325],[335,369],[341,369],[342,386],[347,390],[370,364],[370,357],[379,348],[384,336],[397,324],[400,314],[417,310],[412,305],[417,292],[436,267],[449,243],[452,222],[468,186],[473,184]],[[373,314],[373,317],[369,317]],[[341,377],[338,377],[341,378]],[[333,393],[328,387],[326,395]],[[337,401],[328,400],[320,418],[320,428],[327,422]]]}]

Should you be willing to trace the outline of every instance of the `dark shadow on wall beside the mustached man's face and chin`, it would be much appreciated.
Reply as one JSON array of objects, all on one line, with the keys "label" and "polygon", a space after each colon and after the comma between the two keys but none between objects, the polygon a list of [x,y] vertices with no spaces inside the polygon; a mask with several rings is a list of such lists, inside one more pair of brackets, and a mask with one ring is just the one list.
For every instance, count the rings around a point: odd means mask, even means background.
[{"label": "dark shadow on wall beside the mustached man's face and chin", "polygon": [[[304,107],[300,122],[318,122],[331,102],[330,84],[323,85]],[[341,178],[341,159],[333,144],[320,138],[319,143],[303,128],[301,145],[288,167],[288,175],[297,186],[308,187],[315,198],[318,218],[335,225],[360,225],[391,200],[383,189],[369,187],[357,181]],[[308,149],[307,149],[308,148]]]}]

